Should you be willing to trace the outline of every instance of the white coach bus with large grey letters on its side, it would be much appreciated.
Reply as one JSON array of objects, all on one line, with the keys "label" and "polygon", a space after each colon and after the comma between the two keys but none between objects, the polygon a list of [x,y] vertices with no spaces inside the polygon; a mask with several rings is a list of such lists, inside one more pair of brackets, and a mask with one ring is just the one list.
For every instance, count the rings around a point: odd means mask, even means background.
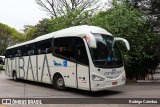
[{"label": "white coach bus with large grey letters on its side", "polygon": [[99,91],[125,84],[116,41],[106,30],[81,25],[49,33],[6,49],[6,75],[65,87]]}]

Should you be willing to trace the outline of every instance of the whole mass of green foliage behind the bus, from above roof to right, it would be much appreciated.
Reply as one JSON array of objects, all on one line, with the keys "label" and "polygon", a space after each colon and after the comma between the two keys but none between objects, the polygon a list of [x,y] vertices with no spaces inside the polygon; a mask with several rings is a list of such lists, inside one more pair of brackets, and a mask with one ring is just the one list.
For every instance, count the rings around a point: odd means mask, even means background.
[{"label": "whole mass of green foliage behind the bus, from above roof to right", "polygon": [[[102,27],[114,36],[123,37],[129,41],[131,50],[122,52],[128,78],[143,79],[160,63],[160,33],[154,30],[147,14],[126,2],[113,0],[112,8],[94,16],[77,10],[61,17],[43,19],[36,26],[26,26],[25,36],[30,40],[43,34],[82,24]],[[120,47],[124,50],[121,44]]]}]

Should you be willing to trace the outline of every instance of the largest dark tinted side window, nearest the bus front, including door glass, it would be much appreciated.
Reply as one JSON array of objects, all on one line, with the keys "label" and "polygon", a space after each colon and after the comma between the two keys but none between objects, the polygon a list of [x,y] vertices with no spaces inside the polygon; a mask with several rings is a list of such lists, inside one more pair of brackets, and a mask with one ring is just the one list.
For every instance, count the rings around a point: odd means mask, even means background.
[{"label": "largest dark tinted side window, nearest the bus front, including door glass", "polygon": [[83,39],[79,37],[55,38],[54,55],[67,58],[70,61],[75,59],[80,64],[89,64],[85,44]]}]

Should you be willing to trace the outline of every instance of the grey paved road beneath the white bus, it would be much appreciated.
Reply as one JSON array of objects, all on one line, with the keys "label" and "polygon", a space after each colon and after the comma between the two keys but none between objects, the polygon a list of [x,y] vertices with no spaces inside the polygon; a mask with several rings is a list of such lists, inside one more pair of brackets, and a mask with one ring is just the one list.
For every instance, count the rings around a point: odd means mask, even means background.
[{"label": "grey paved road beneath the white bus", "polygon": [[[57,91],[52,88],[52,85],[48,85],[48,84],[42,84],[42,83],[36,83],[36,82],[24,81],[24,80],[15,82],[12,80],[12,78],[5,76],[4,71],[0,71],[0,98],[8,98],[8,97],[13,97],[13,98],[14,97],[16,98],[160,98],[160,83],[132,83],[132,84],[130,83],[130,84],[126,84],[125,86],[116,87],[116,88],[112,88],[112,89],[108,89],[100,92],[88,92],[88,91],[82,91],[82,90],[71,89],[71,88],[69,88],[66,91]],[[74,107],[72,105],[67,105],[67,106]],[[88,106],[88,105],[83,105],[83,106]],[[102,105],[99,105],[99,106],[102,106]],[[114,105],[114,106],[127,107],[126,105]],[[129,106],[133,106],[133,105],[129,105]],[[154,106],[158,106],[158,105],[154,105]],[[0,107],[5,107],[5,106],[1,105]],[[90,107],[92,107],[92,105],[90,105]],[[111,107],[111,105],[109,107]]]}]

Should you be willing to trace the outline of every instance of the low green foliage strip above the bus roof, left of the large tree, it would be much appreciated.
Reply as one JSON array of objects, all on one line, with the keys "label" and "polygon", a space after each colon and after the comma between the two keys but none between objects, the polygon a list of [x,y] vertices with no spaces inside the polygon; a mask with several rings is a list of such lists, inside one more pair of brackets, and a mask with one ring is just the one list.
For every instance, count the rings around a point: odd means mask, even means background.
[{"label": "low green foliage strip above the bus roof, left of the large tree", "polygon": [[80,13],[80,11],[77,10],[62,17],[43,19],[35,26],[25,26],[24,35],[28,40],[34,39],[38,36],[55,32],[70,26],[88,24],[90,18],[91,15],[87,12]]}]

